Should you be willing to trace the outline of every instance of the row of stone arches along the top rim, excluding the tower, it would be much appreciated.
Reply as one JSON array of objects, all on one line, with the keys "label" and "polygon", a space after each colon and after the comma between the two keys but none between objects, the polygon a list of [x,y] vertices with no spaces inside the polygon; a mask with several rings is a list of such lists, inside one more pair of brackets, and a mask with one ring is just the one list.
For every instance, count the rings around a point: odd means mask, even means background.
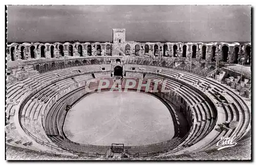
[{"label": "row of stone arches along the top rim, excluding the tower", "polygon": [[[113,55],[135,55],[135,56],[163,56],[163,57],[182,57],[195,58],[199,60],[206,60],[208,62],[215,62],[217,56],[218,61],[241,64],[244,58],[244,64],[251,62],[251,46],[245,45],[206,45],[206,44],[172,44],[167,43],[125,43],[123,51],[125,53],[113,54],[112,44],[56,44],[56,45],[13,45],[8,49],[8,60],[29,60],[38,58],[58,58],[65,56],[113,56]],[[232,47],[233,46],[233,47]]]}]

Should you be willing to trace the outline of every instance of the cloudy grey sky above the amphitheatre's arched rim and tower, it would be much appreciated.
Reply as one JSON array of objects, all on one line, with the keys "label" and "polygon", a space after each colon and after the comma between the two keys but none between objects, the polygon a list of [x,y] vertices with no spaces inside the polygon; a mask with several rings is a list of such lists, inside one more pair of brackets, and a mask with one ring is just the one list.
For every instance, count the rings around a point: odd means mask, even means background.
[{"label": "cloudy grey sky above the amphitheatre's arched rim and tower", "polygon": [[8,42],[250,42],[251,6],[8,6]]}]

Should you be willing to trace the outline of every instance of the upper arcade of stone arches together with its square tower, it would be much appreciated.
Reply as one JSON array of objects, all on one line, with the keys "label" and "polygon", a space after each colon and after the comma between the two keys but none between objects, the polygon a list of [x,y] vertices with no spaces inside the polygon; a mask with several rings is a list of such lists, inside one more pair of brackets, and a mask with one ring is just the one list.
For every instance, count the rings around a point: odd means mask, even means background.
[{"label": "upper arcade of stone arches together with its square tower", "polygon": [[125,29],[113,29],[113,42],[39,43],[7,45],[7,61],[90,56],[145,56],[174,60],[251,63],[251,43],[238,42],[136,42],[125,40]]}]

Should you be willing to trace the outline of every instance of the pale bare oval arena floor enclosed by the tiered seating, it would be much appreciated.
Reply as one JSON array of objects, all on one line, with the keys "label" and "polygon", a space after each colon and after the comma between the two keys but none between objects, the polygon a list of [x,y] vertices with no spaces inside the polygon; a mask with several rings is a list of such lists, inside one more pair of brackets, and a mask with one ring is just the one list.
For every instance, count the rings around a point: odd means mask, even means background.
[{"label": "pale bare oval arena floor enclosed by the tiered seating", "polygon": [[73,142],[100,146],[150,145],[175,134],[168,108],[135,91],[101,91],[84,97],[68,112],[63,131]]}]

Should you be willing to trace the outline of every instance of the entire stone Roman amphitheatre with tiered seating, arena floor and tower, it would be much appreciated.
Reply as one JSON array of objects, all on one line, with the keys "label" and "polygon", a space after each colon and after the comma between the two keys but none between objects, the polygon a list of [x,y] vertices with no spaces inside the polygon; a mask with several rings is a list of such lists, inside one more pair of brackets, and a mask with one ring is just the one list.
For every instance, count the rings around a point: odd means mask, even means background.
[{"label": "entire stone Roman amphitheatre with tiered seating, arena floor and tower", "polygon": [[[6,60],[6,145],[28,158],[218,159],[250,143],[250,42],[136,42],[113,29],[113,42],[8,43]],[[217,152],[221,137],[238,145]]]}]

